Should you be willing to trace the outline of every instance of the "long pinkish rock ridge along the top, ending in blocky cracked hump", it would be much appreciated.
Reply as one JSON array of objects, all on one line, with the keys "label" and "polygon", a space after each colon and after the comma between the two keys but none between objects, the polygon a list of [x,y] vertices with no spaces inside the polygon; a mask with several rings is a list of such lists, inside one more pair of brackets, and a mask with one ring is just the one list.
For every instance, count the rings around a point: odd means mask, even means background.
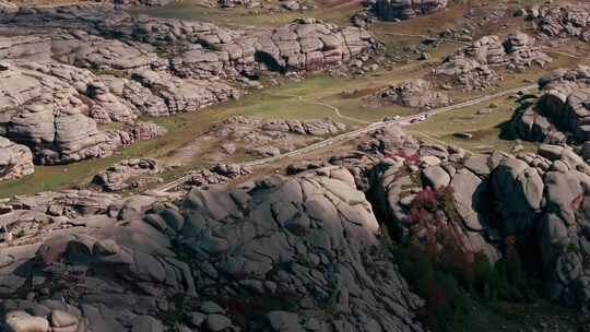
[{"label": "long pinkish rock ridge along the top, ending in blocky cracked hump", "polygon": [[[20,13],[11,22],[34,29],[76,31],[75,37],[66,37],[70,42],[60,40],[59,46],[71,50],[72,43],[83,44],[82,50],[64,54],[72,54],[70,58],[81,63],[102,68],[166,67],[167,61],[158,59],[150,47],[172,51],[182,46],[170,59],[170,69],[179,76],[200,80],[236,78],[260,66],[280,71],[322,70],[339,67],[377,47],[365,29],[340,28],[309,17],[271,31],[241,32],[203,22],[133,17],[109,7],[86,5],[37,8]],[[63,39],[61,35],[58,40]],[[118,36],[120,40],[141,44],[126,46],[96,36]]]}]

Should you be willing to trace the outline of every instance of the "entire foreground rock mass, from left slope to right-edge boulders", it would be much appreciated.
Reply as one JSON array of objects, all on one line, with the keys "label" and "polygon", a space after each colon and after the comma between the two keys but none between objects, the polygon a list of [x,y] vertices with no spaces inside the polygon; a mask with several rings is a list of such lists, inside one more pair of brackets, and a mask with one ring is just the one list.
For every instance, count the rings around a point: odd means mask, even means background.
[{"label": "entire foreground rock mass, from left slope to right-edge boulders", "polygon": [[193,181],[175,201],[88,190],[15,198],[0,209],[2,322],[21,332],[423,331],[424,301],[385,229],[400,242],[445,238],[437,254],[491,262],[506,238],[532,238],[553,298],[587,306],[588,168],[556,145],[469,155],[391,127],[290,176]]}]

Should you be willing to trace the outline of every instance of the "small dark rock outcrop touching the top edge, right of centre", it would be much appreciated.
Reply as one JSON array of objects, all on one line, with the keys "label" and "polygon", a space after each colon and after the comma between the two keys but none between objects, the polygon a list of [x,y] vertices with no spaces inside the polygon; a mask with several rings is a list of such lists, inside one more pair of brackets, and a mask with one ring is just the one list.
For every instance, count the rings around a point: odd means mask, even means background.
[{"label": "small dark rock outcrop touching the top edge, right of centre", "polygon": [[447,7],[447,0],[377,0],[374,11],[384,21],[427,15]]}]

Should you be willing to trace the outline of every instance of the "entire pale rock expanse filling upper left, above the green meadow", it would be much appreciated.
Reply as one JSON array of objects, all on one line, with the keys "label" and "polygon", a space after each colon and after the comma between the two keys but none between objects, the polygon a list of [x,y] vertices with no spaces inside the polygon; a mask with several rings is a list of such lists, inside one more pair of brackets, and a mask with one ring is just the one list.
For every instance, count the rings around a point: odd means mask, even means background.
[{"label": "entire pale rock expanse filling upper left, above the green meadow", "polygon": [[[7,9],[0,31],[0,135],[36,164],[104,157],[162,134],[149,123],[137,137],[133,123],[238,98],[258,70],[327,70],[377,47],[364,29],[315,19],[234,31],[108,4]],[[108,122],[131,132],[101,129]]]}]

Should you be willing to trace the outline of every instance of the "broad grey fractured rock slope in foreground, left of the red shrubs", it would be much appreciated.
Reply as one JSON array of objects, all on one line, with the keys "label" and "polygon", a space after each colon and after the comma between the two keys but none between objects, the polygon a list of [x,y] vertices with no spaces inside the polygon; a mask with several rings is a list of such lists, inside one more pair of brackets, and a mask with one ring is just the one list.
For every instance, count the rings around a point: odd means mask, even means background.
[{"label": "broad grey fractured rock slope in foreground, left of the red shrubs", "polygon": [[413,313],[423,303],[342,168],[194,189],[178,208],[132,197],[96,213],[35,224],[50,236],[3,248],[9,330],[423,331]]}]

